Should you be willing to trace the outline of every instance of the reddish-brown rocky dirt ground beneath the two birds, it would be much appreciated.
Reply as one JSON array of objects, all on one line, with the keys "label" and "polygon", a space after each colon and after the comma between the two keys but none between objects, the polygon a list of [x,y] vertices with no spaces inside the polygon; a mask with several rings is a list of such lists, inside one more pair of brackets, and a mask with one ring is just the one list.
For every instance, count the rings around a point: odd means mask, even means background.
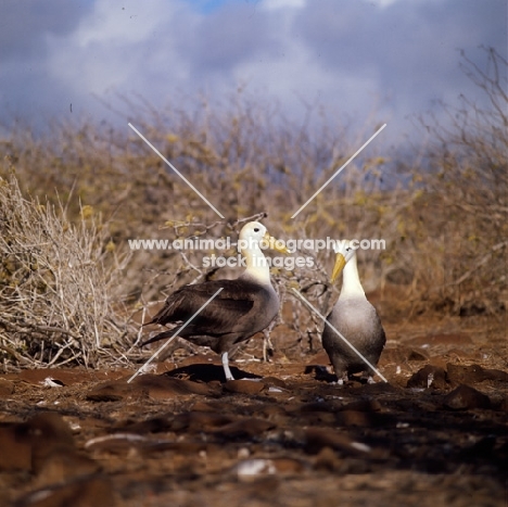
[{"label": "reddish-brown rocky dirt ground beneath the two birds", "polygon": [[[507,505],[506,321],[385,324],[389,383],[278,328],[231,360],[0,376],[0,505]],[[53,382],[46,379],[51,378]],[[51,385],[55,383],[56,385]]]}]

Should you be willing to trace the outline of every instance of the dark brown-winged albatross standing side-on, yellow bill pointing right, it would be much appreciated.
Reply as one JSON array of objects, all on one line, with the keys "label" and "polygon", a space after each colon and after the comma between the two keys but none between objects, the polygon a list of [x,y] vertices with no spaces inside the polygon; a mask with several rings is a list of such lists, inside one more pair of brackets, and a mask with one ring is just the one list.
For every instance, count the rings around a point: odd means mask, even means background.
[{"label": "dark brown-winged albatross standing side-on, yellow bill pointing right", "polygon": [[[279,297],[270,281],[269,264],[261,249],[262,241],[279,248],[266,227],[258,221],[246,224],[240,231],[239,252],[245,257],[245,271],[234,280],[212,280],[185,286],[170,294],[161,310],[148,324],[177,327],[163,331],[142,345],[173,337],[181,325],[205,304],[219,289],[219,294],[181,330],[179,337],[221,354],[226,380],[233,380],[229,369],[229,351],[263,331],[279,312]],[[148,325],[147,324],[147,325]]]}]

